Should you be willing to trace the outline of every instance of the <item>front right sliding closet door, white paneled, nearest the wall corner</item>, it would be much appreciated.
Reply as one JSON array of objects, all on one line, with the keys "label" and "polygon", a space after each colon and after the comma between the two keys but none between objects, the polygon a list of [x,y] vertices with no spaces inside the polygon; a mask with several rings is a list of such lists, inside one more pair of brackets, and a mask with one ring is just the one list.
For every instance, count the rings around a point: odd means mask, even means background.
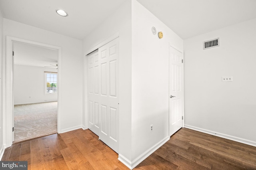
[{"label": "front right sliding closet door, white paneled, nearest the wall corner", "polygon": [[99,48],[99,139],[118,153],[118,49],[116,38]]}]

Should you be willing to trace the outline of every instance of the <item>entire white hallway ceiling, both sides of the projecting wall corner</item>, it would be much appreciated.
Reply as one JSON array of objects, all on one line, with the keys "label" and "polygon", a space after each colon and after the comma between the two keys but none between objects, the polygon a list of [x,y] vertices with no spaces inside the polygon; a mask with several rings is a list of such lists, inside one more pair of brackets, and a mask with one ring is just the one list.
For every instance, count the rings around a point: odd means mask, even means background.
[{"label": "entire white hallway ceiling, both sides of the projecting wall corner", "polygon": [[[126,0],[0,0],[4,18],[83,40]],[[256,0],[138,0],[182,39],[256,18]],[[56,14],[68,12],[68,17]]]}]

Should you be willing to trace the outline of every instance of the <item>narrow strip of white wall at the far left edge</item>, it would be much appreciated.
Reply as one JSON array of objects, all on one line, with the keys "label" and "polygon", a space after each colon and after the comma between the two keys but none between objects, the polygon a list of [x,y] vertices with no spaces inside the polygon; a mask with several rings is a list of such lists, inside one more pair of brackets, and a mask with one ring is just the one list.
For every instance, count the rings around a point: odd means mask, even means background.
[{"label": "narrow strip of white wall at the far left edge", "polygon": [[0,10],[0,160],[2,158],[2,154],[4,154],[4,135],[3,135],[3,89],[2,89],[2,69],[3,69],[3,16]]}]

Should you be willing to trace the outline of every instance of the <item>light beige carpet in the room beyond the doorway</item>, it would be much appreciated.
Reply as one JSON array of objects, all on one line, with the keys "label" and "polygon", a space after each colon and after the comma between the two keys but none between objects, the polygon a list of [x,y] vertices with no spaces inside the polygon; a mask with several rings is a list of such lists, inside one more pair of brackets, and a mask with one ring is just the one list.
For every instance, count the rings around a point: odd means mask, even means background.
[{"label": "light beige carpet in the room beyond the doorway", "polygon": [[14,142],[57,132],[57,102],[14,105]]}]

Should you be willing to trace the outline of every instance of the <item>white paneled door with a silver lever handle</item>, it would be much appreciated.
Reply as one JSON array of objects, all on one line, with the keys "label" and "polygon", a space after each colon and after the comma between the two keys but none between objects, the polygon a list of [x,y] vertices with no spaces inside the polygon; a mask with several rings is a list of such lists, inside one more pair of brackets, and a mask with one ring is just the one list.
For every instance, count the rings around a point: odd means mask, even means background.
[{"label": "white paneled door with a silver lever handle", "polygon": [[169,46],[169,135],[183,125],[183,63],[182,53]]}]

